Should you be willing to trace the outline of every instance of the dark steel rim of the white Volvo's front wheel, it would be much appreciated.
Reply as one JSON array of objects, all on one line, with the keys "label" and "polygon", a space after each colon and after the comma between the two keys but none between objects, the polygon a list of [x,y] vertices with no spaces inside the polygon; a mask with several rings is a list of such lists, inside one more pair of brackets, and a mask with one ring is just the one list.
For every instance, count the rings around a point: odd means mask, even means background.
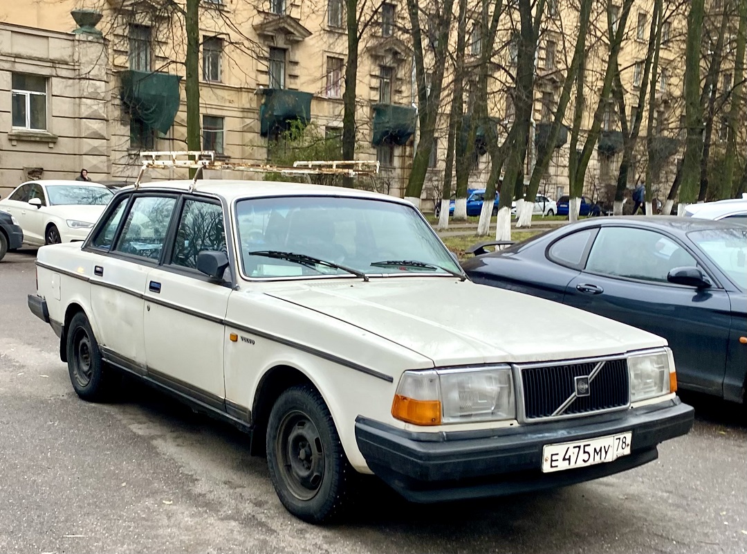
[{"label": "dark steel rim of the white Volvo's front wheel", "polygon": [[301,411],[286,414],[275,448],[280,475],[288,490],[300,500],[314,498],[324,477],[324,449],[311,418]]}]

